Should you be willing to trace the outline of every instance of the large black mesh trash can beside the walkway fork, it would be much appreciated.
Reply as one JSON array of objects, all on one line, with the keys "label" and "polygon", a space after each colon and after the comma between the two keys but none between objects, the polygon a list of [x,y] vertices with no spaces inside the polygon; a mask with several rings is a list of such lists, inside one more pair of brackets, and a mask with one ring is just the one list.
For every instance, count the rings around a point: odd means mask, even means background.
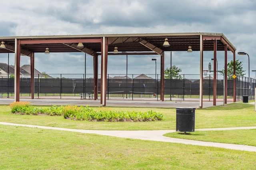
[{"label": "large black mesh trash can beside the walkway fork", "polygon": [[195,131],[195,110],[193,107],[176,107],[176,131]]}]

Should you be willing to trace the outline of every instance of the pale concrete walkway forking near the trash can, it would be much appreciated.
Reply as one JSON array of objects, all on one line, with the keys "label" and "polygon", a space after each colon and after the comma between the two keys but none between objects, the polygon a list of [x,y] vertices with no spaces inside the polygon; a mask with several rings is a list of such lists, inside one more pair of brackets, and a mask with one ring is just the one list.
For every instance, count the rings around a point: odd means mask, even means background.
[{"label": "pale concrete walkway forking near the trash can", "polygon": [[[121,137],[121,138],[154,140],[154,141],[162,141],[162,142],[192,144],[192,145],[198,145],[198,146],[212,146],[212,147],[225,148],[225,149],[256,152],[256,146],[246,146],[246,145],[240,145],[240,144],[225,144],[225,143],[217,143],[217,142],[202,142],[202,141],[196,141],[196,140],[169,138],[169,137],[163,136],[163,134],[170,133],[170,132],[176,132],[176,130],[81,130],[81,129],[58,128],[58,127],[44,127],[44,126],[36,126],[36,125],[22,125],[22,124],[5,123],[5,122],[0,122],[0,125],[12,125],[12,126],[22,126],[22,127],[32,127],[32,128],[53,129],[53,130],[65,130],[65,131],[71,131],[71,132],[100,134],[100,135],[114,136],[114,137]],[[236,129],[254,129],[254,128],[256,128],[256,127],[208,128],[208,129],[196,129],[196,131],[199,131],[199,130],[236,130]]]}]

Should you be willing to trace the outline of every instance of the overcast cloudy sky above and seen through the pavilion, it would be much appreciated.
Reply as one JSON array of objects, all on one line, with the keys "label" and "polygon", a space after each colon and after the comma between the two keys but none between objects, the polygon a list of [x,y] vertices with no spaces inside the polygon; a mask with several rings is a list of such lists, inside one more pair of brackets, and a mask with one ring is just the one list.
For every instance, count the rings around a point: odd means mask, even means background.
[{"label": "overcast cloudy sky above and seen through the pavilion", "polygon": [[[143,34],[213,32],[223,33],[236,47],[236,59],[243,62],[248,76],[256,70],[256,0],[4,0],[0,5],[1,36]],[[172,65],[181,74],[200,74],[199,52],[172,52]],[[35,68],[46,73],[85,72],[84,53],[35,54]],[[128,56],[128,74],[160,74],[160,56]],[[204,68],[213,52],[204,52]],[[224,67],[224,52],[217,52],[218,70]],[[228,52],[228,62],[233,54]],[[100,60],[99,60],[100,61]],[[10,65],[14,54],[10,53]],[[8,55],[0,54],[0,63]],[[86,74],[93,73],[92,56],[86,55]],[[20,65],[30,64],[22,56]],[[165,69],[170,52],[165,53]],[[99,70],[100,73],[100,70]],[[108,74],[126,74],[126,56],[108,56]],[[255,72],[250,72],[255,77]],[[189,75],[186,78],[190,78]]]}]

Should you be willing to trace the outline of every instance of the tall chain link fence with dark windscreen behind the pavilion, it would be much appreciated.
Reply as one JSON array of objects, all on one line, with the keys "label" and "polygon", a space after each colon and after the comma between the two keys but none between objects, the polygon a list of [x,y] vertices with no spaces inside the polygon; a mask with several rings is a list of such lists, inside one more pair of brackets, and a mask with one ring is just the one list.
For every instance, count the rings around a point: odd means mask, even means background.
[{"label": "tall chain link fence with dark windscreen behind the pavilion", "polygon": [[[55,98],[82,98],[87,93],[94,94],[93,74],[49,74],[45,78],[35,75],[34,96]],[[100,77],[100,75],[98,75]],[[170,76],[169,76],[170,77]],[[200,75],[182,75],[182,79],[164,79],[164,99],[188,101],[199,99]],[[220,77],[220,76],[219,76]],[[31,96],[30,78],[20,78],[20,96]],[[255,99],[256,80],[248,77],[236,77],[236,101],[243,96]],[[98,96],[100,97],[100,79]],[[217,80],[217,98],[223,98],[223,79]],[[228,98],[233,99],[233,80],[228,80]],[[1,97],[14,96],[14,78],[0,77]],[[85,96],[83,96],[85,97]],[[93,97],[93,96],[92,96]],[[86,98],[86,97],[85,97]],[[107,75],[107,99],[160,99],[160,75]],[[213,99],[213,78],[203,79],[203,98]]]}]

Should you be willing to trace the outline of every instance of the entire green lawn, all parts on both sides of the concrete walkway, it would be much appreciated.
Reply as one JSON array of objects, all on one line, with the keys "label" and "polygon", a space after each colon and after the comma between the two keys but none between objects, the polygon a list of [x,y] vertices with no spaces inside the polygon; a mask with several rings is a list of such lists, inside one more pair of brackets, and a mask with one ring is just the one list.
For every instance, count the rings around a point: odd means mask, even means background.
[{"label": "entire green lawn, all parts on both sides of the concrete walkway", "polygon": [[[104,107],[104,109],[150,110],[135,107]],[[0,121],[102,130],[174,130],[176,128],[176,109],[152,110],[163,113],[164,120],[135,123],[71,121],[62,116],[13,115],[10,114],[9,106],[0,105]],[[249,126],[256,126],[256,112],[254,105],[247,103],[234,103],[195,111],[195,128]],[[225,130],[195,131],[191,135],[175,132],[171,135],[200,140],[206,138],[214,142],[215,140],[227,143],[235,141],[235,143],[255,146],[254,134],[255,130]],[[255,169],[255,157],[256,152],[0,125],[0,169],[247,170]]]}]

